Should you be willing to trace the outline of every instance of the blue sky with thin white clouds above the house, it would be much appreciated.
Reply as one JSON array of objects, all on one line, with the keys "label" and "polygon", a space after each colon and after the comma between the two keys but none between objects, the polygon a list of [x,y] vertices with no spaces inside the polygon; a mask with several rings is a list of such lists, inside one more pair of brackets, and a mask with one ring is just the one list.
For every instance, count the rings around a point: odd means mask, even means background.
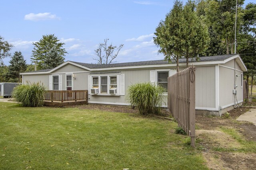
[{"label": "blue sky with thin white clouds above the house", "polygon": [[[153,36],[174,0],[12,0],[1,2],[0,35],[30,62],[32,42],[55,34],[66,43],[65,61],[96,63],[104,39],[124,44],[118,63],[163,59]],[[185,0],[183,1],[185,2]],[[245,4],[253,2],[246,0]],[[3,60],[8,65],[10,58]]]}]

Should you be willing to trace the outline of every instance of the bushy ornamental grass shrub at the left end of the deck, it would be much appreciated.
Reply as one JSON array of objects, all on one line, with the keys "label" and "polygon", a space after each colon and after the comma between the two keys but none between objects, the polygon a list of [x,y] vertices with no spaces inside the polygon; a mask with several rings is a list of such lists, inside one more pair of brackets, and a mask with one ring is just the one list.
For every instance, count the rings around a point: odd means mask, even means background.
[{"label": "bushy ornamental grass shrub at the left end of the deck", "polygon": [[38,107],[44,104],[44,93],[46,88],[43,84],[29,83],[16,86],[12,95],[16,98],[21,106],[25,107]]}]

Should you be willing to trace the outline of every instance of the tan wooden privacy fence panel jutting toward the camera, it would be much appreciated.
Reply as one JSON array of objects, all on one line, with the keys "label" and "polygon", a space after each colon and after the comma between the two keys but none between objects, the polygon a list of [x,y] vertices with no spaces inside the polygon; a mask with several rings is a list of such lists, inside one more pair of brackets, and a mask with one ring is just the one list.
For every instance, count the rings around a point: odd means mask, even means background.
[{"label": "tan wooden privacy fence panel jutting toward the camera", "polygon": [[195,146],[195,67],[168,77],[168,109]]}]

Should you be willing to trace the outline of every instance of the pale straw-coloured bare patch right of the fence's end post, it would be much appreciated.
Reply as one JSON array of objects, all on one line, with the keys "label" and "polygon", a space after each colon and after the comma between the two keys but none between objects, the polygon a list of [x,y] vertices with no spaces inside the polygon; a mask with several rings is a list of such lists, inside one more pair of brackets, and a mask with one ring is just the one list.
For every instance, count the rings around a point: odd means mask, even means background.
[{"label": "pale straw-coloured bare patch right of the fence's end post", "polygon": [[230,135],[217,130],[196,130],[197,139],[202,145],[203,150],[213,148],[241,148],[241,145]]}]

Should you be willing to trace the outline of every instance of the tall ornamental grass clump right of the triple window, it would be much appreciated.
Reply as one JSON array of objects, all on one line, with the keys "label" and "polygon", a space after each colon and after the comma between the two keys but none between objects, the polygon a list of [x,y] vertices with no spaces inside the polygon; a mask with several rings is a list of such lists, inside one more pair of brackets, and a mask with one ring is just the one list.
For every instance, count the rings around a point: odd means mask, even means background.
[{"label": "tall ornamental grass clump right of the triple window", "polygon": [[128,102],[140,114],[159,114],[163,102],[164,88],[151,83],[138,83],[128,88]]}]

